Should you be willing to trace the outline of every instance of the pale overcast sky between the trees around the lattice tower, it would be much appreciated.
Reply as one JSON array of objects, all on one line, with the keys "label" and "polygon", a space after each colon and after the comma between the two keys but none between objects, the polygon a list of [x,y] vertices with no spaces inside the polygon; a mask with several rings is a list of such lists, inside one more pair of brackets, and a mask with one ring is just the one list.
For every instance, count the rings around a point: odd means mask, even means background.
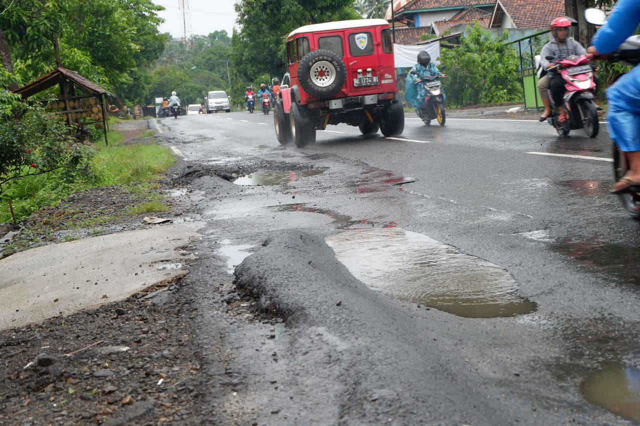
[{"label": "pale overcast sky between the trees around the lattice tower", "polygon": [[229,36],[233,34],[237,18],[234,0],[152,1],[166,9],[158,13],[164,19],[164,24],[158,27],[161,33],[171,33],[174,38],[182,38],[186,27],[187,36],[209,35],[222,29]]}]

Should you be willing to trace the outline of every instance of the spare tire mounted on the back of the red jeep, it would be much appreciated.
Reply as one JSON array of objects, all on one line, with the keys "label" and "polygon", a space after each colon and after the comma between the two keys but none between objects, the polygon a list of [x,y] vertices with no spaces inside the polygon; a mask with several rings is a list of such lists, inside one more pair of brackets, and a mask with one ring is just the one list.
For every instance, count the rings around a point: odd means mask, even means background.
[{"label": "spare tire mounted on the back of the red jeep", "polygon": [[347,81],[347,68],[333,51],[317,49],[308,52],[298,66],[300,86],[316,98],[330,98]]}]

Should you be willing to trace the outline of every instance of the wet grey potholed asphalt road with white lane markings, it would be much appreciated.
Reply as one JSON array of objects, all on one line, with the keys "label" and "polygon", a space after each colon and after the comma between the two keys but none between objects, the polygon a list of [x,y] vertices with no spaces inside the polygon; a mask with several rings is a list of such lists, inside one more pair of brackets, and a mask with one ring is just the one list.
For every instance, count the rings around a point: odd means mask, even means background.
[{"label": "wet grey potholed asphalt road with white lane markings", "polygon": [[[408,116],[400,138],[365,137],[340,125],[298,149],[278,144],[272,120],[257,113],[157,120],[159,139],[188,161],[293,172],[282,185],[240,187],[210,177],[193,187],[209,225],[203,244],[252,247],[236,269],[237,285],[286,320],[223,339],[246,384],[229,396],[234,404],[257,412],[259,424],[638,420],[629,377],[640,365],[639,224],[607,194],[604,125],[595,139],[582,130],[559,138],[531,120],[450,116],[440,127]],[[296,178],[305,169],[324,171]],[[394,185],[402,178],[413,182]],[[324,244],[361,231],[342,239],[355,241],[342,247],[349,253],[365,230],[385,229],[429,237],[476,262],[444,265],[440,271],[453,278],[433,292],[424,288],[437,281],[434,269],[412,275],[403,267],[442,264],[447,256],[416,259],[415,250],[394,251],[383,239],[371,255],[362,251],[343,264],[335,244],[335,251]],[[394,263],[381,269],[401,271],[391,287],[427,276],[422,287],[393,297],[389,288],[372,291],[365,281],[376,277],[367,272],[389,258]],[[469,270],[460,288],[493,283],[488,265],[506,275],[500,288],[516,295],[511,300],[527,302],[524,312],[484,309],[506,297],[490,285],[480,296],[442,288]],[[204,272],[196,266],[193,276],[204,280]],[[443,300],[462,310],[436,309]],[[489,315],[465,315],[478,306]],[[207,340],[205,324],[202,333]],[[598,381],[605,375],[608,381]],[[630,407],[614,409],[606,395],[630,395]]]}]

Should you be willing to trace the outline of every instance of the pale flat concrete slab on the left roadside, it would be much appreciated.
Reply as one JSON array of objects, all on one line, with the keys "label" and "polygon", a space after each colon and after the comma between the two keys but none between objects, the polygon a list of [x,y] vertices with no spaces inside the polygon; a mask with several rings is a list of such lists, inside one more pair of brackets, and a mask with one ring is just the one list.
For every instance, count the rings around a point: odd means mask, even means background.
[{"label": "pale flat concrete slab on the left roadside", "polygon": [[0,260],[0,329],[22,327],[126,299],[188,273],[195,254],[177,250],[202,224],[153,225],[42,246]]}]

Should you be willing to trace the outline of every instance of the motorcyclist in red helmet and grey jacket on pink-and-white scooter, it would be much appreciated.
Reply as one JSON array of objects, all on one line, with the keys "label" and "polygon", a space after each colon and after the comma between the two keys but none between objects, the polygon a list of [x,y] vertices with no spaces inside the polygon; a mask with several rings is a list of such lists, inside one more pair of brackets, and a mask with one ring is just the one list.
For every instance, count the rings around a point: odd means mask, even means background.
[{"label": "motorcyclist in red helmet and grey jacket on pink-and-white scooter", "polygon": [[[568,58],[572,55],[579,56],[586,53],[586,50],[580,43],[569,37],[569,28],[573,24],[575,24],[575,20],[566,16],[557,17],[551,22],[550,27],[553,40],[549,40],[540,51],[540,66],[544,72],[547,72],[549,68],[556,65],[554,62],[547,59],[547,56],[553,56],[554,59],[552,60],[557,61],[558,59]],[[540,115],[540,121],[545,121],[551,114],[548,90],[551,91],[554,104],[556,104],[559,114],[558,123],[566,122],[566,120],[568,120],[568,116],[566,111],[564,111],[563,105],[564,81],[559,72],[547,72],[547,74],[541,77],[540,81],[538,81],[540,99],[545,107],[545,111]]]}]

